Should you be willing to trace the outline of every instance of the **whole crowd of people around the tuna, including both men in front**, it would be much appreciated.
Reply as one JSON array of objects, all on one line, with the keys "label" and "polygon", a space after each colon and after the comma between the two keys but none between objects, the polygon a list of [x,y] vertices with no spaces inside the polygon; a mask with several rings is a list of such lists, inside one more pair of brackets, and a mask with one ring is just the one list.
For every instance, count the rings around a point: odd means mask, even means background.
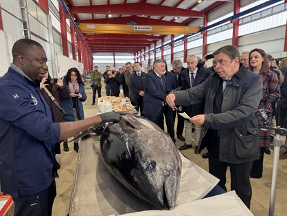
[{"label": "whole crowd of people around the tuna, including both men in front", "polygon": [[[47,82],[51,79],[47,57],[36,41],[16,41],[12,56],[13,63],[0,78],[1,191],[12,195],[15,215],[51,215],[60,142],[69,151],[68,138],[100,122],[118,122],[121,116],[110,112],[85,119],[82,102],[87,94],[80,72],[73,67],[56,83]],[[187,56],[187,68],[174,59],[170,72],[162,58],[147,65],[147,73],[139,62],[127,62],[118,70],[106,66],[103,74],[95,66],[92,105],[96,94],[102,96],[104,78],[107,96],[119,96],[122,90],[141,116],[163,130],[166,125],[174,143],[175,135],[185,141],[179,150],[192,149],[192,140],[196,154],[207,147],[203,158],[208,158],[209,173],[218,177],[225,191],[230,166],[231,190],[250,208],[249,178],[262,177],[264,153],[271,153],[268,146],[274,140],[273,131],[260,130],[264,122],[254,113],[264,109],[268,126],[285,127],[287,58],[278,67],[264,50],[240,55],[233,45],[220,47],[213,57],[211,67],[206,67],[207,56]],[[189,118],[183,118],[183,112]],[[78,139],[73,144],[78,152]],[[287,147],[280,155],[286,158]],[[39,208],[32,208],[30,202]]]}]

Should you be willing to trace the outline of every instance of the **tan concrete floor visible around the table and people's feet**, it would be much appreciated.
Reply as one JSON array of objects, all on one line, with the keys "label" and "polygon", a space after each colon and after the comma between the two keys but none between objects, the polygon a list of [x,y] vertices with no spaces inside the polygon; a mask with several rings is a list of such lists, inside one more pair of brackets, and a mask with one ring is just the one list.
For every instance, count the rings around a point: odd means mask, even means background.
[{"label": "tan concrete floor visible around the table and people's feet", "polygon": [[[104,87],[102,87],[102,90]],[[97,105],[91,105],[92,103],[92,91],[91,88],[86,89],[87,101],[84,102],[84,116],[85,118],[94,116],[97,113]],[[103,92],[103,96],[105,93]],[[184,132],[183,132],[184,136]],[[285,137],[282,136],[284,143]],[[176,138],[176,145],[181,147],[184,142]],[[61,145],[61,149],[62,149]],[[58,170],[60,175],[59,179],[56,179],[57,185],[57,197],[54,201],[53,215],[66,216],[69,213],[69,206],[71,202],[71,191],[73,186],[74,173],[76,169],[76,161],[78,153],[73,150],[73,142],[69,143],[69,151],[62,150],[60,155],[56,155],[58,162],[61,165],[61,169]],[[253,189],[253,198],[251,201],[251,212],[255,216],[268,215],[269,200],[270,200],[270,188],[271,188],[271,175],[273,166],[273,145],[270,147],[271,155],[264,155],[264,173],[261,179],[251,179],[251,185]],[[281,153],[284,152],[284,147],[280,149]],[[195,164],[198,164],[201,168],[208,171],[208,160],[203,159],[201,155],[206,150],[202,151],[199,155],[194,153],[194,149],[184,150],[183,153],[192,160]],[[287,189],[287,160],[279,160],[278,167],[278,180],[277,180],[277,197],[275,202],[275,214],[276,216],[285,216],[287,214],[286,203],[286,189]],[[230,191],[230,175],[227,171],[227,190]]]}]

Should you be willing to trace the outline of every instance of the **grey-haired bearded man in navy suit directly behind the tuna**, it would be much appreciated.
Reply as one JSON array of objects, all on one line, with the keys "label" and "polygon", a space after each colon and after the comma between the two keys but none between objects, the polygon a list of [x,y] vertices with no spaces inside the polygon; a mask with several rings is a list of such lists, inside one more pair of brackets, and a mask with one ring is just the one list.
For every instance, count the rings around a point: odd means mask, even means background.
[{"label": "grey-haired bearded man in navy suit directly behind the tuna", "polygon": [[167,91],[165,61],[161,58],[153,63],[153,71],[146,74],[144,80],[143,115],[163,128],[163,106]]}]

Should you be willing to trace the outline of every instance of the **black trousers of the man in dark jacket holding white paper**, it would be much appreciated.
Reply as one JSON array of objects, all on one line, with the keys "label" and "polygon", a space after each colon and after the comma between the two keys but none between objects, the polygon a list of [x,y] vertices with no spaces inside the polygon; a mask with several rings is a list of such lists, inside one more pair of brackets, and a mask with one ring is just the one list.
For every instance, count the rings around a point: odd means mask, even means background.
[{"label": "black trousers of the man in dark jacket holding white paper", "polygon": [[217,177],[220,181],[218,185],[225,191],[227,166],[230,166],[231,174],[231,191],[235,190],[236,194],[242,202],[250,208],[252,189],[249,180],[249,174],[253,162],[247,162],[243,164],[228,164],[227,162],[219,161],[219,138],[216,136],[214,142],[211,144],[208,150],[209,153],[209,173]]}]

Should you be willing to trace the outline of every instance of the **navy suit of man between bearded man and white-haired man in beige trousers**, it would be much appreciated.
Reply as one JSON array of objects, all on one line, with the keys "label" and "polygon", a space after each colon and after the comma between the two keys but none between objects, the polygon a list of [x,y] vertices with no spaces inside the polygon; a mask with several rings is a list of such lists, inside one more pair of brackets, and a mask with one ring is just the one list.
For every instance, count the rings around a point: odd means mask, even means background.
[{"label": "navy suit of man between bearded man and white-haired man in beige trousers", "polygon": [[[174,74],[172,72],[165,72],[165,74],[163,76],[165,76],[166,80],[167,80],[167,89],[168,89],[167,92],[170,92],[173,89],[176,89],[176,87],[177,87],[176,74]],[[168,105],[164,106],[163,107],[163,113],[165,116],[166,127],[168,127],[168,134],[170,134],[170,137],[175,142],[175,138],[174,138],[174,114],[173,114],[172,108]]]}]

